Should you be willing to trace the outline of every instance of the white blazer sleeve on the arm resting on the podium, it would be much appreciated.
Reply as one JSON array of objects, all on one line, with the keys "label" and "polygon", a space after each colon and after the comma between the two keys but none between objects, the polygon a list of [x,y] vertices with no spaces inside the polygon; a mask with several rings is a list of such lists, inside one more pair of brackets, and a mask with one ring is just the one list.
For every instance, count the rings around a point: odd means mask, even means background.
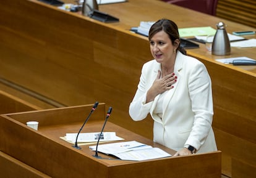
[{"label": "white blazer sleeve on the arm resting on the podium", "polygon": [[203,63],[197,63],[189,73],[188,87],[194,124],[185,145],[192,145],[198,150],[207,139],[213,119],[211,79]]}]

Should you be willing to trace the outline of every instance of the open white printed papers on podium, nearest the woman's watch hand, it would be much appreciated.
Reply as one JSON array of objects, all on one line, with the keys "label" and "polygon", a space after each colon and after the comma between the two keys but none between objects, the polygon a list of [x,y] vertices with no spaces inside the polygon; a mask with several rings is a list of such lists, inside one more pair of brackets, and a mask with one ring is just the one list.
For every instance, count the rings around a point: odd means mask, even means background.
[{"label": "open white printed papers on podium, nearest the woman's watch hand", "polygon": [[[96,150],[96,145],[89,147]],[[169,157],[169,153],[160,148],[153,148],[137,141],[117,142],[114,144],[98,145],[98,152],[114,155],[121,160],[142,161],[156,158]]]}]

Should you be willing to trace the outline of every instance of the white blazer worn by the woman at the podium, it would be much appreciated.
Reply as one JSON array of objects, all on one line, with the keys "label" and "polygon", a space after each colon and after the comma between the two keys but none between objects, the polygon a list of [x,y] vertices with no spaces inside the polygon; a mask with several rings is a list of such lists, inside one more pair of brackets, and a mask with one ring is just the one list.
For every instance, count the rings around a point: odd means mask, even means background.
[{"label": "white blazer worn by the woman at the podium", "polygon": [[192,145],[197,153],[217,150],[211,128],[213,100],[211,79],[202,62],[177,52],[174,73],[177,82],[173,84],[163,100],[163,116],[153,113],[155,100],[145,103],[147,91],[161,70],[161,63],[150,60],[142,67],[142,75],[129,114],[134,121],[140,121],[150,113],[154,119],[153,139],[173,150]]}]

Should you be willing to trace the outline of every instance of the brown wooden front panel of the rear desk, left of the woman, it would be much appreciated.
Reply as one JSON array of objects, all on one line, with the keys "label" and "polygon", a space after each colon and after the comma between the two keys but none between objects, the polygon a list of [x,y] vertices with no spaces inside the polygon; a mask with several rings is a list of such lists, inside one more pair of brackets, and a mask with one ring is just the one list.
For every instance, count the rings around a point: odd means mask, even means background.
[{"label": "brown wooden front panel of the rear desk, left of the woman", "polygon": [[[129,102],[144,59],[151,59],[148,41],[135,43],[136,35],[35,2],[14,3],[14,12],[2,4],[1,14],[8,14],[0,17],[2,78],[61,105],[105,102],[113,107],[113,122],[133,129]],[[146,129],[137,132],[152,137]]]}]

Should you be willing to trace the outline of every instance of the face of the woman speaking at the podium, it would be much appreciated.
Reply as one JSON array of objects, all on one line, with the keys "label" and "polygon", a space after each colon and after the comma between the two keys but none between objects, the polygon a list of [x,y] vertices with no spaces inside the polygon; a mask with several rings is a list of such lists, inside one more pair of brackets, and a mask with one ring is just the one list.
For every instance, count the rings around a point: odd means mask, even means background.
[{"label": "face of the woman speaking at the podium", "polygon": [[168,34],[163,30],[154,34],[150,40],[150,51],[159,63],[169,63],[175,60],[177,44],[171,42]]}]

